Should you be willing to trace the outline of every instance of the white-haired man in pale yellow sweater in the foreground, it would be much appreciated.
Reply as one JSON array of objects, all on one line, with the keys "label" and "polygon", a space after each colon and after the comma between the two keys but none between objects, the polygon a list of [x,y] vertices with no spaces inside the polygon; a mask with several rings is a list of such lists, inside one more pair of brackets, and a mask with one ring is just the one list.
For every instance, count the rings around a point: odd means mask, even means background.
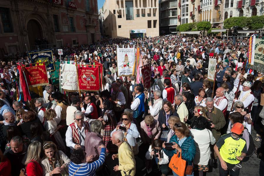
[{"label": "white-haired man in pale yellow sweater in the foreground", "polygon": [[114,167],[114,171],[121,171],[121,175],[134,176],[136,174],[136,161],[131,146],[123,141],[122,131],[115,131],[112,134],[112,143],[118,147],[118,154],[112,155],[112,159],[118,158],[119,165]]}]

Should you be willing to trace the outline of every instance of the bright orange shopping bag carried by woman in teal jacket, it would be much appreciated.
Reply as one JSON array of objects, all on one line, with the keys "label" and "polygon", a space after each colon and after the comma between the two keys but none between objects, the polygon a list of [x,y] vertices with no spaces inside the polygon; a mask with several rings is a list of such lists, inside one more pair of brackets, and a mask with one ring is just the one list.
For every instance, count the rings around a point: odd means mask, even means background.
[{"label": "bright orange shopping bag carried by woman in teal jacket", "polygon": [[186,161],[182,159],[182,152],[174,154],[170,160],[169,167],[179,176],[184,176]]}]

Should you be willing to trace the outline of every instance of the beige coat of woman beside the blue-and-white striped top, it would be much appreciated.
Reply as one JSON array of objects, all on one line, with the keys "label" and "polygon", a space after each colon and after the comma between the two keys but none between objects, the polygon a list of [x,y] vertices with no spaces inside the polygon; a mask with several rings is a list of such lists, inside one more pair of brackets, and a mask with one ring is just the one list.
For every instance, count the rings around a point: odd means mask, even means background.
[{"label": "beige coat of woman beside the blue-and-white striped top", "polygon": [[[58,151],[57,152],[57,156],[60,157],[60,160],[62,162],[62,164],[66,164],[66,167],[64,169],[64,172],[62,173],[62,175],[68,175],[68,166],[71,162],[70,158],[67,157],[67,155],[65,155],[62,151]],[[41,167],[42,167],[42,170],[43,170],[43,176],[49,176],[51,170],[50,170],[50,164],[49,164],[49,161],[48,161],[48,158],[47,157],[43,157],[43,159],[41,160]]]}]

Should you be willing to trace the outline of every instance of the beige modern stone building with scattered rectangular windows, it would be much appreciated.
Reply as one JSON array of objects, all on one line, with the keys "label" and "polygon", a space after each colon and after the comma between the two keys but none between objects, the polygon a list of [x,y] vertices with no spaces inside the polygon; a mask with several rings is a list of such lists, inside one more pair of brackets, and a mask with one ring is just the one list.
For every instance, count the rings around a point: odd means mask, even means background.
[{"label": "beige modern stone building with scattered rectangular windows", "polygon": [[111,38],[159,36],[158,0],[105,0],[100,19]]}]

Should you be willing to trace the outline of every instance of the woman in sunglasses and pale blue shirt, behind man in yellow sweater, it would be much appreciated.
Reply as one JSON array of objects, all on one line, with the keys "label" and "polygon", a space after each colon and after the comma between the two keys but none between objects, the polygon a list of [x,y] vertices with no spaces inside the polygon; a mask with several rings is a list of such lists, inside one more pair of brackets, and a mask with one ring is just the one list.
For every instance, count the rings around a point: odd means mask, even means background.
[{"label": "woman in sunglasses and pale blue shirt, behind man in yellow sweater", "polygon": [[131,145],[134,155],[138,154],[138,144],[136,139],[139,136],[139,132],[136,124],[132,122],[132,114],[124,112],[121,115],[120,121],[122,124],[116,126],[116,128],[111,132],[111,136],[116,130],[121,130],[124,133],[124,141],[127,141],[128,144]]}]

